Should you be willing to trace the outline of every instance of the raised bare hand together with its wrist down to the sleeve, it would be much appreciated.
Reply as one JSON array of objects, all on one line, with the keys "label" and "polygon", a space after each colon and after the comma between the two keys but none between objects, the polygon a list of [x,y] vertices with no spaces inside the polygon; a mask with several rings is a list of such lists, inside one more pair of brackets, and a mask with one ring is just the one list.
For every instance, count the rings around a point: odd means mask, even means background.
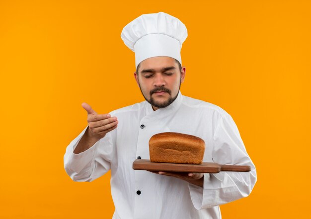
[{"label": "raised bare hand together with its wrist down to the sleeve", "polygon": [[87,103],[82,103],[82,107],[87,112],[88,127],[74,150],[76,154],[87,150],[118,126],[117,117],[111,117],[109,114],[97,114]]}]

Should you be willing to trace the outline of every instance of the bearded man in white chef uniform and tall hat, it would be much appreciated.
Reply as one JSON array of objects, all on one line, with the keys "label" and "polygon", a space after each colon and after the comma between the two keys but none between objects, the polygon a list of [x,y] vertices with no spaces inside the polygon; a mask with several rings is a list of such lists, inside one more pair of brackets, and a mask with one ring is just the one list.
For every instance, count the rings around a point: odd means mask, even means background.
[{"label": "bearded man in white chef uniform and tall hat", "polygon": [[[88,104],[88,126],[67,147],[66,172],[92,181],[111,170],[113,219],[220,219],[219,205],[246,197],[257,180],[232,117],[220,107],[183,96],[186,68],[180,49],[185,25],[163,12],[143,14],[121,33],[135,52],[135,79],[146,101],[97,114]],[[204,162],[249,165],[250,172],[169,173],[136,171],[149,159],[149,139],[177,132],[205,141]],[[104,197],[103,197],[104,198]]]}]

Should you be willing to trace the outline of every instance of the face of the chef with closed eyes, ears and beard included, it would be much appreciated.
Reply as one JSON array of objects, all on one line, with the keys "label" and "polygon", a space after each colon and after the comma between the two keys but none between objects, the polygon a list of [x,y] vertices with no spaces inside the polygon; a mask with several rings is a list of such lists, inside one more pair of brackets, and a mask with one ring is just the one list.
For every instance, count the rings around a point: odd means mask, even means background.
[{"label": "face of the chef with closed eyes, ears and beard included", "polygon": [[173,58],[157,56],[141,62],[139,73],[135,72],[134,76],[145,99],[157,110],[177,98],[185,73],[186,68],[180,72]]}]

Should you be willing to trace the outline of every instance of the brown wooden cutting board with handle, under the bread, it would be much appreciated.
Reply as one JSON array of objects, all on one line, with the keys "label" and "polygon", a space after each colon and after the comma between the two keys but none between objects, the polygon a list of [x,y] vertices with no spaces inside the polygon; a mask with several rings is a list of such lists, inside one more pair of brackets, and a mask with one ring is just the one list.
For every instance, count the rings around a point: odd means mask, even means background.
[{"label": "brown wooden cutting board with handle, under the bread", "polygon": [[208,162],[203,162],[202,164],[156,163],[146,159],[134,160],[133,169],[187,173],[219,173],[220,171],[249,172],[251,170],[250,166],[221,165]]}]

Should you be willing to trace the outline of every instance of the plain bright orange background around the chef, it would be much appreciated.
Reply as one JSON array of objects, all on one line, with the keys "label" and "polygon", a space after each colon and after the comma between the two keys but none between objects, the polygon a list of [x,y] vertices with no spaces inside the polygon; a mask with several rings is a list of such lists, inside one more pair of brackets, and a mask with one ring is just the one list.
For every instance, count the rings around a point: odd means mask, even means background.
[{"label": "plain bright orange background around the chef", "polygon": [[110,172],[74,182],[63,156],[87,125],[82,102],[144,100],[120,34],[159,11],[188,29],[182,94],[232,115],[257,168],[223,218],[310,218],[311,1],[1,0],[1,219],[111,219]]}]

